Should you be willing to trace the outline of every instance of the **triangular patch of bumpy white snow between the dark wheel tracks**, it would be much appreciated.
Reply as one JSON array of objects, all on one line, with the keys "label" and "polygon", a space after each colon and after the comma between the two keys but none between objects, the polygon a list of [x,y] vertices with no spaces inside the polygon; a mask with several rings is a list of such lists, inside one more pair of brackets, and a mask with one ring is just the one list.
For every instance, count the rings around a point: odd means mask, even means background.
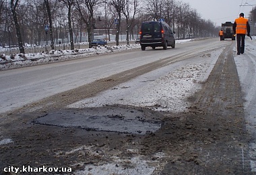
[{"label": "triangular patch of bumpy white snow between the dark wheel tracks", "polygon": [[133,105],[156,111],[187,111],[187,98],[201,89],[221,50],[193,59],[193,64],[181,62],[143,74],[129,82],[104,91],[97,97],[78,101],[68,107],[102,107],[104,105]]}]

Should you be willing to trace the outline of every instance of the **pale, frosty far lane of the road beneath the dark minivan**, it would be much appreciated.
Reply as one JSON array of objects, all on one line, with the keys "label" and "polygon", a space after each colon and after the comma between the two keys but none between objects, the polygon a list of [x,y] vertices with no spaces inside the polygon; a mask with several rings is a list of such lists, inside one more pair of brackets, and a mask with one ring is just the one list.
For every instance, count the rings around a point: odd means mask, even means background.
[{"label": "pale, frosty far lane of the road beneath the dark minivan", "polygon": [[169,49],[168,52],[162,52],[161,49],[156,50],[156,52],[154,50],[148,50],[147,52],[137,50],[132,53],[109,54],[3,71],[0,74],[0,81],[5,83],[0,84],[0,112],[22,107],[27,103],[75,89],[125,70],[152,62],[153,64],[159,62],[158,64],[164,65],[168,62],[184,60],[209,50],[222,48],[222,45],[219,46],[218,42],[208,43],[202,40],[197,45],[194,42],[181,44],[180,48],[176,50]]}]

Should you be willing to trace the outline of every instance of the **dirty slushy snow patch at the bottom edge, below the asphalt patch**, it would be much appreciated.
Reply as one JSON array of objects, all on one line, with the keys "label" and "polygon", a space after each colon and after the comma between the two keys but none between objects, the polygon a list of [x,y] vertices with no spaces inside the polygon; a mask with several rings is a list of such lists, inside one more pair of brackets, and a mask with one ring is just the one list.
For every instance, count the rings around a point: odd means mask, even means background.
[{"label": "dirty slushy snow patch at the bottom edge, below the asphalt patch", "polygon": [[168,159],[163,152],[158,152],[150,159],[145,156],[139,155],[139,150],[127,149],[126,150],[130,157],[122,157],[122,152],[113,152],[104,145],[98,147],[97,145],[82,145],[79,148],[74,148],[69,152],[57,152],[56,157],[63,157],[66,155],[78,154],[79,156],[87,156],[92,160],[96,161],[93,164],[86,164],[84,162],[75,162],[72,167],[82,166],[84,169],[76,170],[73,172],[75,175],[82,174],[94,174],[94,175],[109,175],[109,174],[133,174],[133,175],[146,175],[152,174],[162,169],[166,165],[166,159]]}]

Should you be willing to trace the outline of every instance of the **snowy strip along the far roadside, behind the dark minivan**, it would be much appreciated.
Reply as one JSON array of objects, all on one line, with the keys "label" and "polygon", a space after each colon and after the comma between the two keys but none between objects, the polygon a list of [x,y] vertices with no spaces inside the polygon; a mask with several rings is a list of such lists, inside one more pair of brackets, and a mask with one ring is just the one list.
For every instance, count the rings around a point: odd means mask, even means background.
[{"label": "snowy strip along the far roadside, behind the dark minivan", "polygon": [[[176,43],[189,42],[188,40],[177,40]],[[75,49],[75,50],[51,50],[49,54],[14,54],[7,56],[0,54],[0,70],[20,68],[26,66],[36,66],[66,60],[73,60],[80,57],[109,54],[112,52],[123,52],[124,50],[139,49],[139,44],[119,45],[119,46],[98,46],[96,48]]]}]

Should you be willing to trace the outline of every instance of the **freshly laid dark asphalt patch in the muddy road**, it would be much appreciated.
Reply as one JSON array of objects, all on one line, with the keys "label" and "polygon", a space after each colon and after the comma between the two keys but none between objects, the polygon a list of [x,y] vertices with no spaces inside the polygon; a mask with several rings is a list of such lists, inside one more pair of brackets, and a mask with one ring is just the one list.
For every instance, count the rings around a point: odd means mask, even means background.
[{"label": "freshly laid dark asphalt patch in the muddy road", "polygon": [[88,131],[110,131],[119,133],[154,133],[162,122],[152,116],[154,111],[132,107],[98,107],[90,109],[64,109],[48,113],[33,123],[74,127]]}]

